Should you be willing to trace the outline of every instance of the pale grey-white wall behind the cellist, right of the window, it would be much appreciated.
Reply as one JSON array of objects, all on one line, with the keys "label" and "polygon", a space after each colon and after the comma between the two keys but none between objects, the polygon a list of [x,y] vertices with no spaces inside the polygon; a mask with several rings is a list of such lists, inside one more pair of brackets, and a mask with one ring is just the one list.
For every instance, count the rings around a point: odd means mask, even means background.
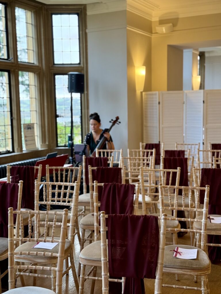
[{"label": "pale grey-white wall behind the cellist, right of the window", "polygon": [[102,127],[120,117],[111,136],[115,148],[128,146],[126,11],[88,15],[89,112],[98,112]]}]

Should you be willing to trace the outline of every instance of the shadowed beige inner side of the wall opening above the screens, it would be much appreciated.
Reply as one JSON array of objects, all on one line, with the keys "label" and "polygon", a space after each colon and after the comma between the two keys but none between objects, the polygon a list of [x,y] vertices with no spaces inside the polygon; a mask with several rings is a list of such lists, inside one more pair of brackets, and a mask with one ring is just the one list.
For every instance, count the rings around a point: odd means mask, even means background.
[{"label": "shadowed beige inner side of the wall opening above the screens", "polygon": [[167,90],[179,91],[183,89],[183,50],[168,46],[167,50]]}]

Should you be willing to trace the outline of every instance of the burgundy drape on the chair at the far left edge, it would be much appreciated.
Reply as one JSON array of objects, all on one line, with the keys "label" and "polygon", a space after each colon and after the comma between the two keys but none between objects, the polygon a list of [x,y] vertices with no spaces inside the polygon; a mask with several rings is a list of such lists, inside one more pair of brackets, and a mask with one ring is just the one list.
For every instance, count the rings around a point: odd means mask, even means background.
[{"label": "burgundy drape on the chair at the far left edge", "polygon": [[0,183],[0,237],[8,238],[8,208],[17,210],[18,191],[17,183]]}]

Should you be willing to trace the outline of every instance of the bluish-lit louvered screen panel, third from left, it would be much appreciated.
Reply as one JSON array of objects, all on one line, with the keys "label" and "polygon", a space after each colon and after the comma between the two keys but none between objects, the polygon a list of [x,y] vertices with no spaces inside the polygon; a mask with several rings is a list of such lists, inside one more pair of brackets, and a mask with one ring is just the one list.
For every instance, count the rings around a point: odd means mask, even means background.
[{"label": "bluish-lit louvered screen panel, third from left", "polygon": [[203,148],[203,90],[184,91],[184,143]]}]

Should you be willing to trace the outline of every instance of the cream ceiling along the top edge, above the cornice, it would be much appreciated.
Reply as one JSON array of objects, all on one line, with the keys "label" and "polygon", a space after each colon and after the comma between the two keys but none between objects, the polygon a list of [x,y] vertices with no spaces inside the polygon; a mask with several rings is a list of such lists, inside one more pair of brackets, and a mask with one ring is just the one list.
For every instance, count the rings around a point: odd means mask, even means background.
[{"label": "cream ceiling along the top edge, above the cornice", "polygon": [[[102,6],[103,12],[122,10],[127,5],[129,11],[151,19],[169,19],[186,16],[221,13],[221,0],[38,0],[45,4],[89,4],[95,7]],[[119,8],[119,9],[118,9]],[[99,8],[99,11],[100,8]]]}]

